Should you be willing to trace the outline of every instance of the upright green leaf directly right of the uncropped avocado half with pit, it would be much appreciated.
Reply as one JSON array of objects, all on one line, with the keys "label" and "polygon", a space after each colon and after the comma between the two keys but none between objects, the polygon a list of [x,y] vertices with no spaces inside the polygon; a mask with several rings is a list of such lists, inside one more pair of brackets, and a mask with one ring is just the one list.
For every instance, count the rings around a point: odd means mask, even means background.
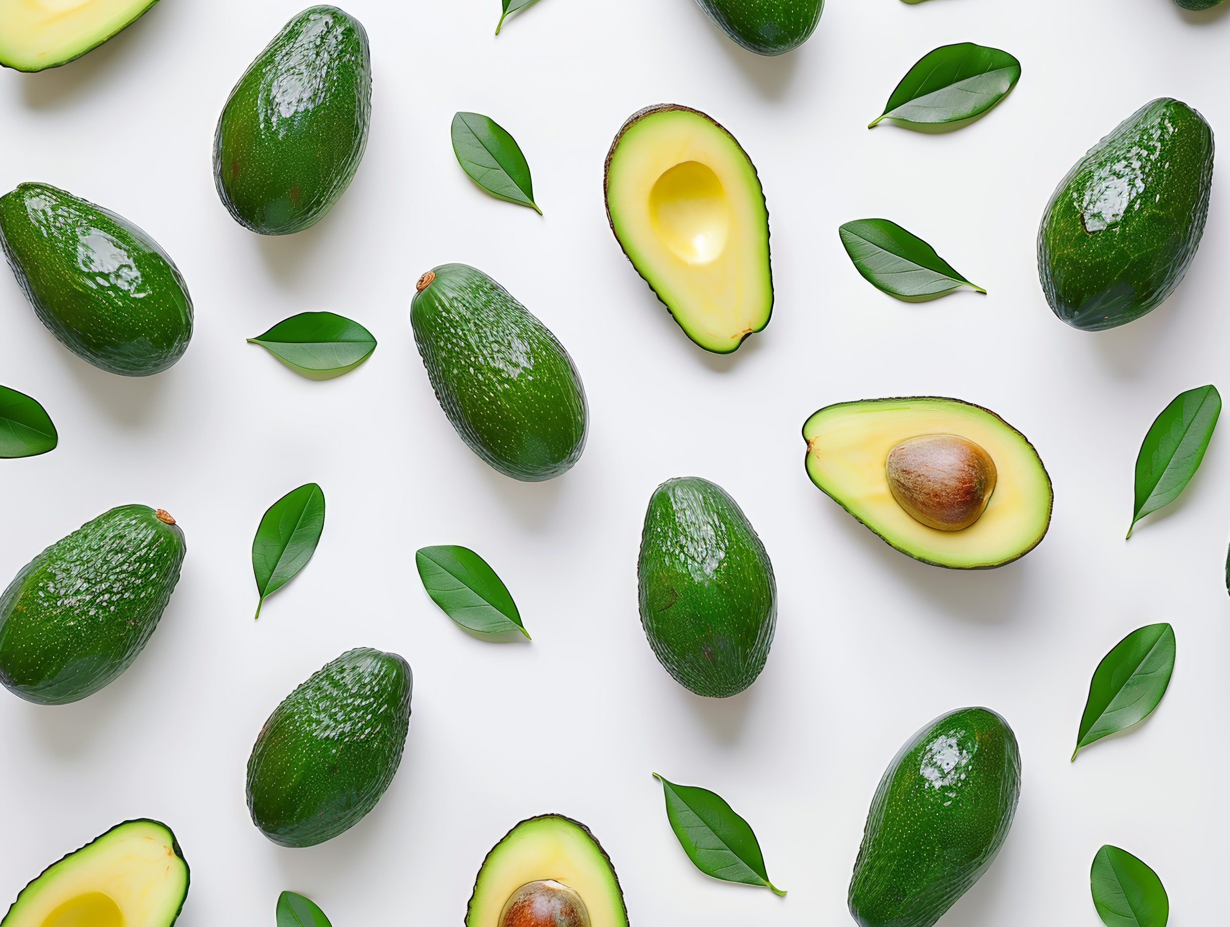
[{"label": "upright green leaf directly right of the uncropped avocado half with pit", "polygon": [[1175,396],[1149,426],[1137,455],[1137,505],[1129,538],[1138,521],[1178,499],[1196,475],[1220,414],[1218,388],[1197,387]]}]

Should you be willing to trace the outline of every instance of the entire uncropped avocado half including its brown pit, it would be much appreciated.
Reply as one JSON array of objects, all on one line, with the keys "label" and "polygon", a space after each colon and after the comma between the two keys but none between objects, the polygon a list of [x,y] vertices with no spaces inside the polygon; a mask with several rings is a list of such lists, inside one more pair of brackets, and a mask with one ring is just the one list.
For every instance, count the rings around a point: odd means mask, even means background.
[{"label": "entire uncropped avocado half including its brown pit", "polygon": [[803,425],[812,483],[889,545],[957,570],[1002,566],[1050,524],[1050,478],[1026,437],[942,396],[825,406]]}]

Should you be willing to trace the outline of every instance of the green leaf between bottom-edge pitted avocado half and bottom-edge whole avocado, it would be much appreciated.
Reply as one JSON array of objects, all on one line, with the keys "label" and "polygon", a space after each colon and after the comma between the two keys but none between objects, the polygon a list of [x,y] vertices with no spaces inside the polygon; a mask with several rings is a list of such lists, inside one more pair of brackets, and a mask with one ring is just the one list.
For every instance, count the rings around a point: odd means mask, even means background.
[{"label": "green leaf between bottom-edge pitted avocado half and bottom-edge whole avocado", "polygon": [[653,774],[665,793],[670,829],[697,869],[715,879],[764,885],[775,895],[786,894],[769,881],[752,826],[721,795],[695,785],[675,785]]}]

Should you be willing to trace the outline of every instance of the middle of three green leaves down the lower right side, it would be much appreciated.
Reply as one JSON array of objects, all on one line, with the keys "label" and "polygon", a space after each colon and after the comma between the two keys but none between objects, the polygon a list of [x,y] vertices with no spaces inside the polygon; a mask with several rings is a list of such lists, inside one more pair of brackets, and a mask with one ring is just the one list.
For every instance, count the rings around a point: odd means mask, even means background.
[{"label": "middle of three green leaves down the lower right side", "polygon": [[1149,716],[1166,694],[1175,671],[1175,629],[1168,624],[1137,628],[1102,657],[1089,684],[1076,750]]}]

